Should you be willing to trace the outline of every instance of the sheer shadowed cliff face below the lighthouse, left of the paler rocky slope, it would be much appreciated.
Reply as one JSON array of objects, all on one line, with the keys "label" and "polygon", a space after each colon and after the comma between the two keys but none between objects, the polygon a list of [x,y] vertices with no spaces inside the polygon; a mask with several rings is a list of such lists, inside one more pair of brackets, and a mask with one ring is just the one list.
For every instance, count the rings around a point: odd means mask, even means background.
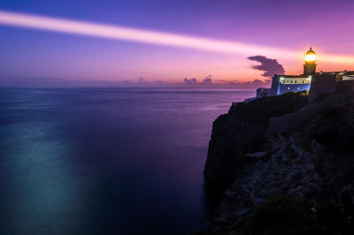
[{"label": "sheer shadowed cliff face below the lighthouse, left of the paler rocky slope", "polygon": [[307,104],[306,92],[271,96],[250,103],[234,103],[212,125],[212,139],[204,177],[216,186],[232,183],[245,164],[245,155],[270,148],[269,118],[284,116]]}]

